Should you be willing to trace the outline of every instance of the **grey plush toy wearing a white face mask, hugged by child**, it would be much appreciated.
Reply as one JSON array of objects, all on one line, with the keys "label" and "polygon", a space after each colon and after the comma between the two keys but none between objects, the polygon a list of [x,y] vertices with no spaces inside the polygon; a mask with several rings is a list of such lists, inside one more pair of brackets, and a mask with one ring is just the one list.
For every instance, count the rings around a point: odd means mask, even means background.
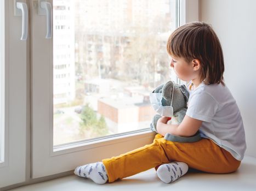
[{"label": "grey plush toy wearing a white face mask, hugged by child", "polygon": [[[189,91],[185,85],[179,85],[173,81],[168,81],[165,84],[158,86],[150,94],[150,102],[153,108],[160,115],[155,115],[150,124],[152,131],[157,133],[156,124],[162,116],[172,117],[168,124],[180,124],[186,115],[187,102],[189,100]],[[184,138],[167,133],[164,138],[170,141],[177,142],[195,142],[201,139],[197,132],[194,136]]]}]

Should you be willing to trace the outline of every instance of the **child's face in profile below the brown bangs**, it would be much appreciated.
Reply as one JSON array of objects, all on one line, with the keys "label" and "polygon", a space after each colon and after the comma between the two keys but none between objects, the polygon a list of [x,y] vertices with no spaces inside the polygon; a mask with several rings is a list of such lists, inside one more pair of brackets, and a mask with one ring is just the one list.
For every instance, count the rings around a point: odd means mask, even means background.
[{"label": "child's face in profile below the brown bangs", "polygon": [[199,68],[195,60],[188,63],[183,58],[172,56],[170,67],[174,69],[176,75],[183,81],[194,80],[198,77]]}]

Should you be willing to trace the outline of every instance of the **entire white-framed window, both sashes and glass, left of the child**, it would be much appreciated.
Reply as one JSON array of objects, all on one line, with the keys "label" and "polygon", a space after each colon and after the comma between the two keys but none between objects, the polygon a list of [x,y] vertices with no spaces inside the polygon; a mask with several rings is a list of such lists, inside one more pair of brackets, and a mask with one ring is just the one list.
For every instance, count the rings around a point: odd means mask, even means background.
[{"label": "entire white-framed window, both sashes and glass, left of the child", "polygon": [[[176,80],[163,69],[169,64],[166,32],[197,20],[198,0],[47,0],[53,8],[52,39],[45,39],[47,17],[38,15],[35,1],[20,1],[33,7],[29,41],[20,40],[22,18],[13,11],[14,2],[0,1],[0,187],[150,144],[150,115],[147,110],[134,112],[134,105],[141,109],[152,88],[169,77]],[[73,136],[73,118],[88,120],[80,113],[88,102],[93,104],[87,111],[96,113],[97,124],[88,128],[104,129],[106,124],[107,130]],[[122,112],[113,112],[121,106]],[[133,124],[128,114],[137,119]],[[67,128],[58,129],[57,120]]]}]

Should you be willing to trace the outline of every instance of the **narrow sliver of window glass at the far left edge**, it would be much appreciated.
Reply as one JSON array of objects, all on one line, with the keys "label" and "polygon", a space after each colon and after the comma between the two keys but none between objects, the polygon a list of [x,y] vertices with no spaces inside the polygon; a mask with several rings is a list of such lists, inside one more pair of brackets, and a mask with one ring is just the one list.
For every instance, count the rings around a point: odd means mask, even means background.
[{"label": "narrow sliver of window glass at the far left edge", "polygon": [[0,163],[4,162],[4,1],[0,2]]}]

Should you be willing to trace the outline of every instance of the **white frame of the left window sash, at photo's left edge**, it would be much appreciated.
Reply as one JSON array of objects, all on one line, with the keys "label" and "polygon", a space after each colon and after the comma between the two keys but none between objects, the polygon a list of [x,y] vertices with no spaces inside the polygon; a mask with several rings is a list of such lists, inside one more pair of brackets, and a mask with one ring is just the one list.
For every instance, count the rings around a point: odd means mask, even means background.
[{"label": "white frame of the left window sash, at photo's left edge", "polygon": [[[29,41],[21,41],[21,17],[14,16],[14,1],[0,1],[4,4],[3,44],[4,55],[1,55],[1,92],[3,105],[1,111],[1,133],[4,135],[4,162],[0,164],[0,188],[24,182],[26,180],[26,146],[27,146],[27,71],[29,63]],[[3,51],[1,51],[3,52]],[[2,70],[3,69],[3,70]],[[1,138],[2,139],[2,138]]]}]

